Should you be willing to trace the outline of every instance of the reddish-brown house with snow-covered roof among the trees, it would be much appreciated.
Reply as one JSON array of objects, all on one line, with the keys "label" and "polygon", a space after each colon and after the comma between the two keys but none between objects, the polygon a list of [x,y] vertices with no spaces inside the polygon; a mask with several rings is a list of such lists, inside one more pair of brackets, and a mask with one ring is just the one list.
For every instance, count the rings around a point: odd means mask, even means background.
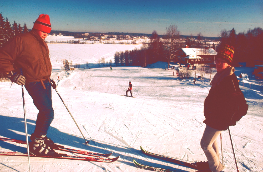
[{"label": "reddish-brown house with snow-covered roof among the trees", "polygon": [[180,48],[178,57],[181,59],[181,63],[201,64],[201,63],[213,63],[217,52],[213,48]]}]

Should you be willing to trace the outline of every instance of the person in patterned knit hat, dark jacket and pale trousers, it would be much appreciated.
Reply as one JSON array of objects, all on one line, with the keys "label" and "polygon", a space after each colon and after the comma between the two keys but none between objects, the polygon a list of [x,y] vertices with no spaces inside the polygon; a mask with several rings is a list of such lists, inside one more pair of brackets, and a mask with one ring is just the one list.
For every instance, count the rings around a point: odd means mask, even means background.
[{"label": "person in patterned knit hat, dark jacket and pale trousers", "polygon": [[236,125],[236,122],[246,115],[248,109],[234,73],[235,69],[231,67],[233,54],[234,48],[224,45],[216,55],[214,63],[217,73],[211,81],[212,87],[204,103],[206,127],[200,144],[208,162],[195,164],[207,167],[208,170],[205,172],[218,172],[224,169],[219,159],[217,138],[223,130]]}]

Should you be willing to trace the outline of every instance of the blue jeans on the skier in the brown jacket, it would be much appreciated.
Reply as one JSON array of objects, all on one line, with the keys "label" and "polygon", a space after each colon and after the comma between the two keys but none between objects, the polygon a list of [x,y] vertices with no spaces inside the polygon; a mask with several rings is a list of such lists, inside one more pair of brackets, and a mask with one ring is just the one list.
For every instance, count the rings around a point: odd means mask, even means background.
[{"label": "blue jeans on the skier in the brown jacket", "polygon": [[46,89],[41,82],[30,82],[25,85],[28,94],[32,97],[33,103],[39,110],[36,120],[34,134],[46,135],[47,130],[54,119],[54,110],[51,99],[51,83],[44,81]]}]

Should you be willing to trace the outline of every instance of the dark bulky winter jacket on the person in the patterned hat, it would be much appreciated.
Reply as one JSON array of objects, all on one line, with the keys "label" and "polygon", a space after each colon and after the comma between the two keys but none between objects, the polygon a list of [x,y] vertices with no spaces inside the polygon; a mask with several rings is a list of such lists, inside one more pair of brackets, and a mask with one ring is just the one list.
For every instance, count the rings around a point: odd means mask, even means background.
[{"label": "dark bulky winter jacket on the person in the patterned hat", "polygon": [[204,123],[214,129],[227,130],[246,115],[247,109],[244,94],[233,73],[211,87],[204,104]]}]

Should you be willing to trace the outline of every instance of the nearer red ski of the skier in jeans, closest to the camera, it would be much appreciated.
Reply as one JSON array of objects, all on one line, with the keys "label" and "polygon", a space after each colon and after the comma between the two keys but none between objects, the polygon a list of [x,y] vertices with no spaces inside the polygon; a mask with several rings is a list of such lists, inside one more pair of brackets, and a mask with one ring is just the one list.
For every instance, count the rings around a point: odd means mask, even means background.
[{"label": "nearer red ski of the skier in jeans, closest to the camera", "polygon": [[[27,153],[21,152],[0,152],[0,155],[6,156],[28,156]],[[115,158],[107,158],[107,157],[84,157],[84,156],[70,156],[66,154],[59,154],[59,156],[38,156],[38,155],[29,155],[30,157],[39,157],[39,158],[57,158],[57,159],[70,159],[70,160],[82,160],[82,161],[96,161],[103,163],[112,163],[116,161],[120,156]]]}]

